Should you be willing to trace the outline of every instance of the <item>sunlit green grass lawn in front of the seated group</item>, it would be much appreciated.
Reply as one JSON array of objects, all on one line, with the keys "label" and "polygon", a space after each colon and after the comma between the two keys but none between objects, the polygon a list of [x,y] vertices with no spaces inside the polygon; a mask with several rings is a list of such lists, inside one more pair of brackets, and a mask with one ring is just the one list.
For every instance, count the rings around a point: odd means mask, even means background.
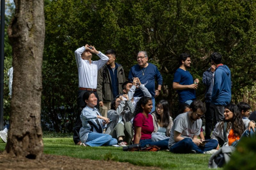
[{"label": "sunlit green grass lawn in front of the seated group", "polygon": [[[44,135],[44,137],[49,137]],[[50,136],[52,137],[52,136]],[[43,138],[44,153],[66,155],[82,159],[115,160],[130,162],[139,166],[157,166],[163,169],[208,169],[208,154],[174,154],[159,152],[124,152],[121,147],[82,147],[76,146],[73,138]],[[0,141],[0,150],[5,143]]]}]

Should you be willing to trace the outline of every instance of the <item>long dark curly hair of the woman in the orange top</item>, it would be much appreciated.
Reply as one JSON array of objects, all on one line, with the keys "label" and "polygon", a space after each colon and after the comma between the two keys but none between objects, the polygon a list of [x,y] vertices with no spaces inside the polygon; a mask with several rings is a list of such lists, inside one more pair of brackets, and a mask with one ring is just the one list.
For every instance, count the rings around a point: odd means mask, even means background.
[{"label": "long dark curly hair of the woman in the orange top", "polygon": [[242,114],[240,113],[238,107],[235,104],[230,103],[229,105],[225,106],[225,108],[233,112],[233,118],[228,121],[226,121],[225,119],[221,121],[221,128],[223,128],[224,122],[227,122],[227,132],[232,127],[232,129],[234,130],[234,134],[238,137],[241,137],[245,130]]}]

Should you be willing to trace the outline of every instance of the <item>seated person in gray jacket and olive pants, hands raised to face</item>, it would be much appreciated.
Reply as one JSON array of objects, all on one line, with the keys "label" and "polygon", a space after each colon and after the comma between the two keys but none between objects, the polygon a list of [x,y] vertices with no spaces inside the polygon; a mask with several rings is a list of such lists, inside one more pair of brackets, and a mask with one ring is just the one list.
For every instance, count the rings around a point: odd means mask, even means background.
[{"label": "seated person in gray jacket and olive pants, hands raised to face", "polygon": [[111,110],[108,110],[108,118],[112,122],[108,123],[106,134],[116,138],[120,146],[132,142],[132,123],[129,121],[134,117],[133,112],[134,107],[127,94],[116,96],[111,103]]}]

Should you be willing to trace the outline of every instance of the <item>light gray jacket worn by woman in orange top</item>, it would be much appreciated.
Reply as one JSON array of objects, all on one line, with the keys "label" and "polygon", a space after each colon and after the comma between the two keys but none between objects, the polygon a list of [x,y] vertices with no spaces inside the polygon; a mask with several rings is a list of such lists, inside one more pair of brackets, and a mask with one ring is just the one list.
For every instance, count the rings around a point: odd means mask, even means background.
[{"label": "light gray jacket worn by woman in orange top", "polygon": [[[248,128],[249,126],[249,122],[251,122],[249,119],[243,119],[244,121],[244,126],[245,126],[245,129]],[[253,121],[252,121],[253,122]],[[231,130],[228,129],[228,132],[227,132],[227,135],[226,135],[226,138],[224,139],[224,135],[223,135],[223,127],[220,127],[221,122],[218,122],[216,125],[215,125],[215,128],[214,130],[212,131],[212,139],[216,139],[217,141],[219,141],[219,139],[222,139],[225,143],[223,144],[223,146],[228,146],[228,135],[229,135],[229,132]]]}]

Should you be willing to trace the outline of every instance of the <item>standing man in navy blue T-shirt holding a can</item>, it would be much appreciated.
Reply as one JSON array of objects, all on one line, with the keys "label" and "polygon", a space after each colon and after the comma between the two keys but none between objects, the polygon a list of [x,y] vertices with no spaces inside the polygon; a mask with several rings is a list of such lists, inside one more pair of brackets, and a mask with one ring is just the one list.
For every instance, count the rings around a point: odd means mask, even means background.
[{"label": "standing man in navy blue T-shirt holding a can", "polygon": [[193,80],[192,75],[187,71],[190,63],[190,55],[182,53],[179,57],[180,68],[175,71],[172,82],[172,88],[177,90],[179,94],[180,103],[187,103],[188,105],[196,99],[196,89],[199,83],[199,80],[197,78]]}]

